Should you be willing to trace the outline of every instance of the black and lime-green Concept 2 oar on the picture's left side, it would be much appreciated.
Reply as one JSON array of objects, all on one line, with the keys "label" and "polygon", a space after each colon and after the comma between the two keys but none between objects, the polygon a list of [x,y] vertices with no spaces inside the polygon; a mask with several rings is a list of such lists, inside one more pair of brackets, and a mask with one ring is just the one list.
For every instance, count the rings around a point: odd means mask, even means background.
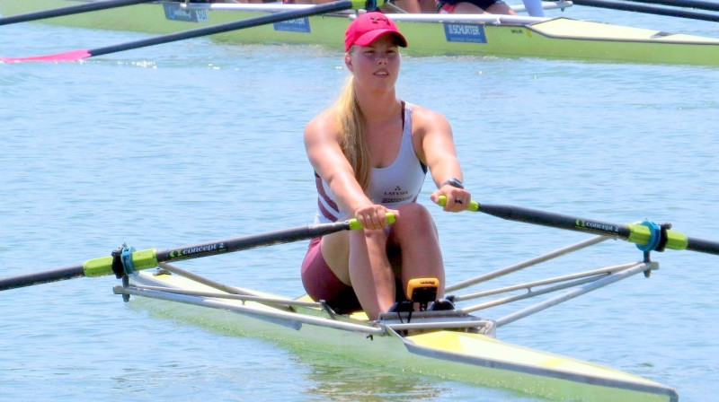
[{"label": "black and lime-green Concept 2 oar on the picture's left side", "polygon": [[[395,215],[387,214],[387,222],[394,223]],[[123,247],[111,256],[88,259],[84,264],[50,269],[32,274],[16,275],[0,278],[0,291],[14,289],[33,284],[46,284],[82,276],[116,275],[122,277],[132,272],[157,267],[163,262],[182,261],[184,259],[209,257],[217,254],[231,253],[244,249],[283,244],[298,240],[307,240],[334,232],[356,231],[362,229],[357,219],[344,222],[311,224],[275,232],[253,234],[228,240],[211,241],[175,249],[135,249]]]}]

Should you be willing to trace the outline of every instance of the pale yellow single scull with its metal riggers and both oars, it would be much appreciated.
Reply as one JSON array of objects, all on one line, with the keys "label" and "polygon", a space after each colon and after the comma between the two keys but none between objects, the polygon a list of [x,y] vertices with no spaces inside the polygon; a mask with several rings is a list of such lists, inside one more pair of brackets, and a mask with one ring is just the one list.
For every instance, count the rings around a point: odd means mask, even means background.
[{"label": "pale yellow single scull with its metal riggers and both oars", "polygon": [[[191,322],[209,321],[223,328],[240,328],[243,334],[301,343],[304,347],[348,356],[377,366],[511,389],[555,400],[679,400],[675,389],[661,383],[597,364],[511,345],[497,339],[496,332],[498,328],[518,319],[629,276],[639,273],[648,276],[659,267],[650,258],[652,251],[688,249],[719,255],[719,242],[689,238],[681,232],[670,230],[668,224],[644,222],[620,225],[511,205],[473,203],[472,210],[503,219],[599,236],[448,286],[447,291],[455,293],[451,296],[454,302],[454,306],[450,305],[453,307],[451,309],[400,310],[384,313],[376,321],[368,320],[362,312],[338,314],[323,301],[311,301],[306,297],[294,299],[221,284],[174,265],[177,261],[189,258],[361,229],[356,220],[308,225],[175,249],[136,251],[123,246],[109,257],[93,258],[81,265],[0,278],[0,291],[78,276],[115,274],[122,279],[122,284],[115,286],[114,292],[122,294],[125,301],[129,301],[130,296],[137,296],[142,300],[169,302],[182,306],[173,309],[173,317],[186,317]],[[643,258],[637,262],[572,275],[456,294],[468,286],[485,283],[608,239],[634,242],[643,251]],[[153,267],[159,268],[154,273],[141,272]],[[431,289],[437,285],[436,282],[424,278],[417,284],[416,288],[422,292],[408,291],[409,297],[421,306],[430,304],[434,295]],[[475,315],[475,311],[499,304],[555,292],[559,294],[503,317],[486,319]],[[509,295],[465,305],[466,301],[505,293]],[[413,294],[419,296],[415,298]],[[155,303],[146,304],[153,308]],[[187,308],[187,305],[192,308]],[[443,306],[447,307],[446,304]]]}]

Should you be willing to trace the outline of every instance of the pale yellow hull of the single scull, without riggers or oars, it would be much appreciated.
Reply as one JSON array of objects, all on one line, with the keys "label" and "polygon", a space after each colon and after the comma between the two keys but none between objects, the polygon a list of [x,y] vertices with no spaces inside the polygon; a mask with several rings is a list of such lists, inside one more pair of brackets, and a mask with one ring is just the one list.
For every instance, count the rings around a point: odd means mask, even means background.
[{"label": "pale yellow hull of the single scull, without riggers or oars", "polygon": [[[133,282],[217,292],[179,275],[142,273]],[[208,301],[204,299],[195,302],[200,307],[193,309],[184,305],[177,308],[176,304],[168,305],[165,302],[141,302],[149,310],[162,311],[164,317],[185,319],[232,334],[262,337],[320,350],[325,354],[347,356],[380,367],[510,389],[540,398],[605,402],[679,400],[675,389],[655,381],[598,364],[511,345],[493,336],[475,332],[432,330],[401,336],[390,330],[383,335],[368,336],[359,331],[301,323],[292,317],[283,319],[268,316],[280,309],[253,301],[219,301],[219,305],[207,306]],[[242,306],[244,310],[237,311],[232,306]],[[374,325],[367,321],[364,314],[332,317],[321,309],[295,309],[296,316],[342,321],[367,328]]]}]

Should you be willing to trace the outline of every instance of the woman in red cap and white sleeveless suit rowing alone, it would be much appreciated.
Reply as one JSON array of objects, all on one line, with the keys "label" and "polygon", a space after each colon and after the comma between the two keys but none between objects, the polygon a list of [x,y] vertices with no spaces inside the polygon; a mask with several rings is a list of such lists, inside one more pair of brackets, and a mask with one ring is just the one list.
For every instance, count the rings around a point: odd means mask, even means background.
[{"label": "woman in red cap and white sleeveless suit rowing alone", "polygon": [[[416,202],[427,170],[438,188],[431,200],[447,197],[445,211],[465,210],[471,197],[447,119],[396,97],[399,47],[407,41],[395,23],[383,13],[360,14],[344,43],[351,75],[334,106],[307,124],[305,145],[318,192],[315,223],[356,217],[365,229],[311,240],[302,282],[315,301],[377,319],[405,299],[413,278],[437,278],[443,296],[437,229]],[[387,213],[396,223],[388,225]]]}]

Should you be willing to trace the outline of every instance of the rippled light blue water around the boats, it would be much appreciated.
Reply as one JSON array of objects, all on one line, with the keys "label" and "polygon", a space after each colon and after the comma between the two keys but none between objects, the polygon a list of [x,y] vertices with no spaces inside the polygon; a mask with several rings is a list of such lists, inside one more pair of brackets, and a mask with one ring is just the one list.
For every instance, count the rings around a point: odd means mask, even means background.
[{"label": "rippled light blue water around the boats", "polygon": [[[570,15],[719,36],[716,24],[577,8]],[[19,24],[0,54],[141,38]],[[310,223],[301,133],[337,94],[339,52],[195,39],[74,64],[0,66],[0,275],[82,263],[122,242],[167,248]],[[608,222],[672,222],[719,240],[719,70],[495,57],[404,58],[405,100],[451,121],[485,203]],[[424,195],[429,196],[428,180]],[[422,203],[430,205],[429,198]],[[442,214],[454,283],[586,236],[483,214]],[[182,267],[298,295],[306,243]],[[641,258],[610,241],[515,283]],[[656,254],[661,269],[501,328],[510,342],[719,395],[719,258]],[[158,318],[111,277],[2,293],[2,400],[533,400],[391,372]],[[507,309],[488,310],[500,317]]]}]

